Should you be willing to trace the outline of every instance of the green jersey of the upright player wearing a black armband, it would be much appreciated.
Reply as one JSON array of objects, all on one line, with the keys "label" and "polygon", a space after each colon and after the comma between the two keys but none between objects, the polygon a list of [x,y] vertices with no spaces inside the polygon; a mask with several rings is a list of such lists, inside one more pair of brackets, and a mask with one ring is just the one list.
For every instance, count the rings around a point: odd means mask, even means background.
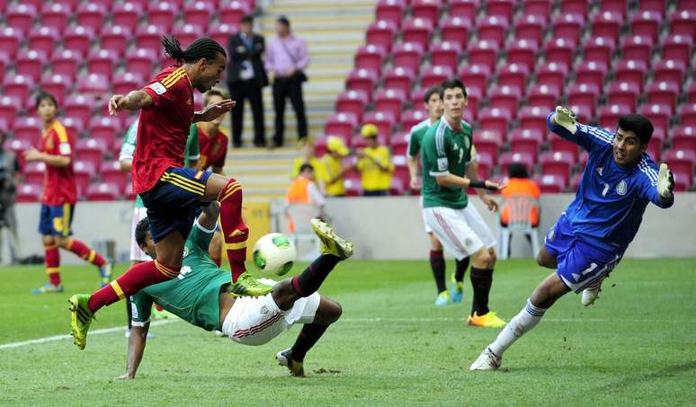
[{"label": "green jersey of the upright player wearing a black armband", "polygon": [[454,131],[444,118],[439,119],[423,137],[423,207],[461,209],[468,204],[467,191],[438,185],[435,177],[448,173],[464,177],[471,162],[471,126],[461,121],[460,131]]}]

